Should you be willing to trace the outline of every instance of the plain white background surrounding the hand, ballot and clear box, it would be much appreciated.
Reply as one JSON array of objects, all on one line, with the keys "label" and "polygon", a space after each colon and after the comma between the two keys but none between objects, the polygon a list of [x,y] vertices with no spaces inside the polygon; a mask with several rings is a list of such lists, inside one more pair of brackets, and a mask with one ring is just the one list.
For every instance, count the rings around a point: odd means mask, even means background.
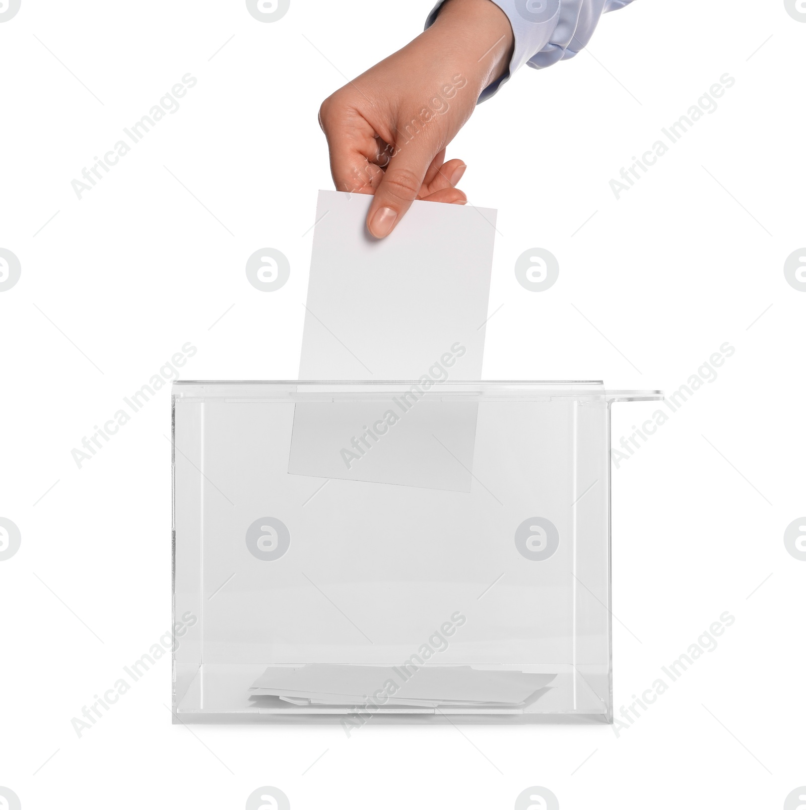
[{"label": "plain white background surrounding the hand, ballot and clear box", "polygon": [[[430,8],[291,0],[265,24],[238,0],[22,0],[0,23],[0,247],[22,266],[0,292],[0,516],[22,533],[0,562],[0,785],[24,810],[243,808],[261,785],[292,808],[511,808],[532,785],[563,810],[782,808],[806,784],[806,563],[783,545],[806,514],[806,292],[783,275],[806,245],[806,23],[783,0],[639,0],[448,153],[498,208],[486,378],[675,390],[736,348],[613,470],[616,706],[729,611],[719,647],[619,737],[172,726],[168,658],[70,725],[170,625],[169,387],[82,469],[70,450],[187,341],[186,379],[296,377],[331,182],[317,109]],[[70,181],[188,72],[181,109],[79,201]],[[609,181],[725,73],[719,109],[617,201]],[[291,262],[278,292],[244,273],[266,246]],[[558,257],[547,292],[515,279],[532,247]],[[656,408],[614,406],[614,442]]]}]

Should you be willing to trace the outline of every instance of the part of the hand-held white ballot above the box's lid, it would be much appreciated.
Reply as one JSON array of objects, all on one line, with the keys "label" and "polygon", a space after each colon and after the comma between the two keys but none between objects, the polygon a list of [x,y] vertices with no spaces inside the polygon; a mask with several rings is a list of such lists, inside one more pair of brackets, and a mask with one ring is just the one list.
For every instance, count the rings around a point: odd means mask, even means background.
[{"label": "part of the hand-held white ballot above the box's lid", "polygon": [[496,211],[415,201],[375,239],[372,197],[320,191],[300,380],[418,380],[443,355],[481,378]]}]

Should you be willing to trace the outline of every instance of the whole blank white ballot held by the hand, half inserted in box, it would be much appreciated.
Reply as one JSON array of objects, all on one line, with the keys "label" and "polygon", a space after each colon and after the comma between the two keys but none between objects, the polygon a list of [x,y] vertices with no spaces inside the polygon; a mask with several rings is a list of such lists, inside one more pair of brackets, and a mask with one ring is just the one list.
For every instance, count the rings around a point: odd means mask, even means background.
[{"label": "whole blank white ballot held by the hand, half inserted in box", "polygon": [[288,471],[469,492],[477,405],[434,393],[481,377],[496,211],[415,201],[378,240],[371,200],[319,193],[299,378],[411,382],[371,402],[297,403]]}]

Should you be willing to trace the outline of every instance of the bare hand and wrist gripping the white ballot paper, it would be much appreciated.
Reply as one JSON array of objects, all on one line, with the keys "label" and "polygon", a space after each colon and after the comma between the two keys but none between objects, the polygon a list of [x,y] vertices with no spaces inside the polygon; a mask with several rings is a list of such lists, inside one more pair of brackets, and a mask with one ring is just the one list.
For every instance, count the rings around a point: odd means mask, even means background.
[{"label": "bare hand and wrist gripping the white ballot paper", "polygon": [[337,190],[375,194],[367,228],[392,232],[415,199],[467,202],[445,148],[481,91],[507,70],[507,15],[492,0],[448,0],[435,23],[325,99],[319,122]]}]

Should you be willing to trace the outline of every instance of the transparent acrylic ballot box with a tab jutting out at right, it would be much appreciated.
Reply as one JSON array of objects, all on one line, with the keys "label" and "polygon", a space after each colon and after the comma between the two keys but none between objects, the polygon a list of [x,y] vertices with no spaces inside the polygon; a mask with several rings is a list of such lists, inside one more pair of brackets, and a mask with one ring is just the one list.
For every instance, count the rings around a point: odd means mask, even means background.
[{"label": "transparent acrylic ballot box with a tab jutting out at right", "polygon": [[176,382],[175,722],[612,720],[601,382]]}]

